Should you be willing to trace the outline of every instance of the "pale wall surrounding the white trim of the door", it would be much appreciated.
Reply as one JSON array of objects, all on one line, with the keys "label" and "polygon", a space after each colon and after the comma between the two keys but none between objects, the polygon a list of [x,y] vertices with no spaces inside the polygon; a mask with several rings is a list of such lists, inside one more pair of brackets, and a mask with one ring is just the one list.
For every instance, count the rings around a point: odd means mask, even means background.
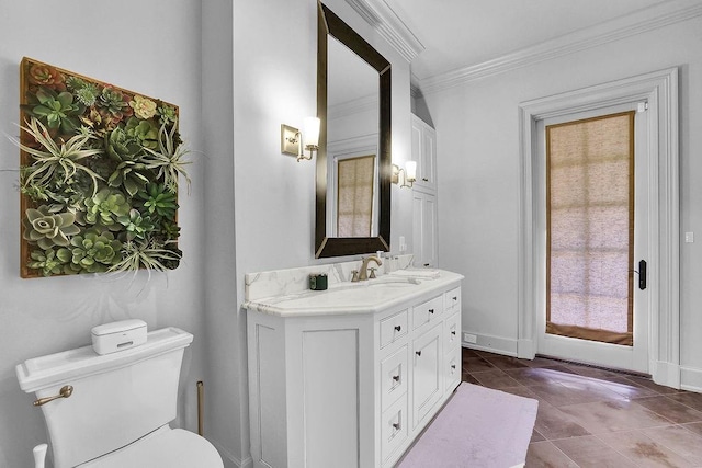
[{"label": "pale wall surrounding the white trim of the door", "polygon": [[[521,102],[680,66],[680,230],[702,230],[702,20],[424,96],[438,129],[439,258],[465,275],[464,330],[516,352]],[[681,243],[683,384],[702,388],[702,251]]]}]

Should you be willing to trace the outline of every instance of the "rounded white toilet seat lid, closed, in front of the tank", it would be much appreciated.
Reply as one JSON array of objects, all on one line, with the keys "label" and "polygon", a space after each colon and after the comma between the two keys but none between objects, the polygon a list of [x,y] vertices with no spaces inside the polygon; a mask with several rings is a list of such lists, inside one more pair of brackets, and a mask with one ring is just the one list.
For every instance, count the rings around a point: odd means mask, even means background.
[{"label": "rounded white toilet seat lid, closed, in front of the tank", "polygon": [[161,426],[133,444],[79,468],[223,468],[215,447],[204,437],[182,429]]}]

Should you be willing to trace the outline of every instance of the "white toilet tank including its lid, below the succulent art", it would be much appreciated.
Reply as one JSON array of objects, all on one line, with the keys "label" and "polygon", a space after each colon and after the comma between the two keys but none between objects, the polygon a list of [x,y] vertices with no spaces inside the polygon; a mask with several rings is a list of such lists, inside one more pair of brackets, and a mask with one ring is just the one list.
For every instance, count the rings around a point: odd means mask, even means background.
[{"label": "white toilet tank including its lid, below the succulent art", "polygon": [[166,328],[145,344],[99,355],[83,346],[16,366],[20,387],[37,398],[69,398],[42,406],[55,468],[75,467],[131,444],[176,419],[184,349],[193,335]]}]

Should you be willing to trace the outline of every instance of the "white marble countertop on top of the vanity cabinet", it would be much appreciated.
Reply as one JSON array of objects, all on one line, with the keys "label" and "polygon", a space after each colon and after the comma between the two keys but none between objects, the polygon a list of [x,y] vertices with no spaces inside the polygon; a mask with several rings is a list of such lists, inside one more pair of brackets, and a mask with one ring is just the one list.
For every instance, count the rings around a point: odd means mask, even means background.
[{"label": "white marble countertop on top of the vanity cabinet", "polygon": [[376,279],[333,283],[326,290],[304,290],[249,299],[244,308],[280,317],[376,313],[412,303],[463,276],[444,270],[400,270]]}]

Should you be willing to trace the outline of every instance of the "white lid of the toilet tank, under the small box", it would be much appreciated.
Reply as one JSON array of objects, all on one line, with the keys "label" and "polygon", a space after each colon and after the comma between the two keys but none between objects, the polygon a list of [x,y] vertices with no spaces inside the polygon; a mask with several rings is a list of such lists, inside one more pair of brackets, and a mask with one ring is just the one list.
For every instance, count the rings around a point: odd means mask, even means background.
[{"label": "white lid of the toilet tank, under the small box", "polygon": [[146,343],[117,353],[99,355],[92,345],[34,357],[18,364],[20,388],[32,392],[148,359],[190,345],[193,335],[176,327],[147,333]]}]

